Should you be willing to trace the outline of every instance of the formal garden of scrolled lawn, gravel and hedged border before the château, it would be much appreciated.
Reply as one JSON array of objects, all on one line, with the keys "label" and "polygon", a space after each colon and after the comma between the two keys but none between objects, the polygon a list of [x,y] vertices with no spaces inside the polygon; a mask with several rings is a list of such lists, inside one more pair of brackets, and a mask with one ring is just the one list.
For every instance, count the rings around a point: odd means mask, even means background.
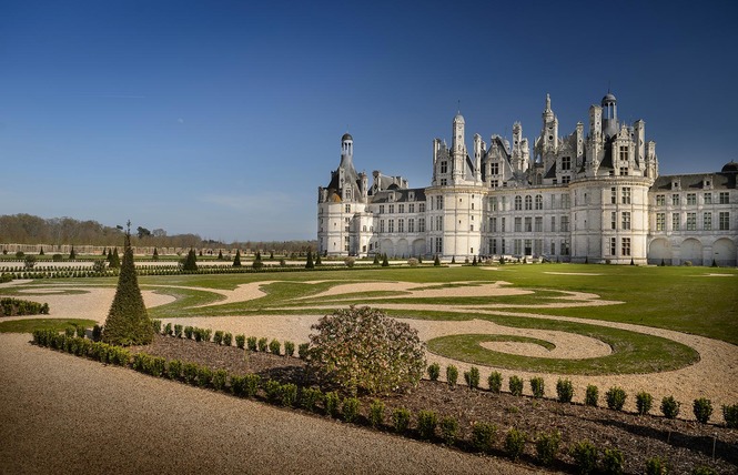
[{"label": "formal garden of scrolled lawn, gravel and hedged border before the ch\u00e2teau", "polygon": [[0,331],[539,467],[738,467],[735,269],[403,264],[139,275],[142,300],[132,287],[124,294],[145,319],[121,324],[111,316],[131,309],[115,303],[123,274],[4,284],[0,296],[50,312],[6,317]]}]

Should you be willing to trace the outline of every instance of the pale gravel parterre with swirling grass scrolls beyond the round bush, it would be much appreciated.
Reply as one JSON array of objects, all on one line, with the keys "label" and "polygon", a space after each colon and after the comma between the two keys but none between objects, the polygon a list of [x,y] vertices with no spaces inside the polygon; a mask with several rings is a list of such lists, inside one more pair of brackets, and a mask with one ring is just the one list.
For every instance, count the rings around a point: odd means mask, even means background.
[{"label": "pale gravel parterre with swirling grass scrolls beyond the round bush", "polygon": [[[70,286],[42,284],[24,285],[23,281],[13,281],[2,286],[16,286],[16,293],[31,299],[39,295],[51,306],[47,317],[78,317],[104,322],[112,301],[114,289],[92,286]],[[280,285],[302,285],[295,297],[281,297],[262,306],[255,304],[270,297],[270,291]],[[314,289],[305,290],[304,286]],[[459,374],[472,365],[481,367],[483,387],[486,375],[493,370],[499,371],[505,381],[517,375],[526,381],[525,394],[530,394],[527,381],[542,376],[546,386],[546,396],[555,397],[556,381],[569,378],[575,388],[574,401],[583,402],[585,388],[595,384],[604,393],[618,385],[626,390],[628,400],[626,411],[635,411],[635,394],[649,392],[654,401],[674,395],[683,403],[680,417],[692,418],[689,411],[691,401],[707,397],[718,410],[712,420],[721,421],[721,405],[738,402],[738,390],[727,382],[738,381],[738,347],[726,342],[704,336],[686,334],[663,329],[607,322],[601,320],[575,319],[566,316],[540,315],[524,310],[539,307],[587,306],[596,312],[600,305],[617,305],[618,302],[600,300],[590,293],[556,291],[536,299],[534,291],[514,289],[505,282],[456,282],[426,283],[411,282],[345,282],[312,281],[280,282],[264,281],[237,286],[235,290],[188,286],[142,286],[144,301],[154,317],[158,309],[165,309],[183,302],[188,293],[206,294],[206,303],[181,306],[183,317],[165,317],[164,323],[223,330],[235,334],[267,336],[295,343],[306,342],[311,325],[333,309],[345,307],[350,303],[366,304],[393,312],[393,314],[414,312],[434,312],[445,320],[431,317],[404,319],[418,330],[423,341],[429,342],[428,363],[437,362],[443,366],[454,364]],[[296,289],[296,287],[295,287]],[[84,292],[84,293],[80,293]],[[539,292],[540,293],[540,292]],[[463,299],[473,304],[439,304],[433,300]],[[495,299],[508,299],[502,303]],[[484,300],[489,299],[488,303]],[[525,303],[515,303],[515,299],[526,299]],[[408,303],[398,303],[406,300]],[[422,303],[425,300],[428,303]],[[539,303],[536,303],[536,300]],[[256,310],[259,311],[256,311]],[[206,316],[206,315],[220,316]],[[501,319],[495,322],[495,319]],[[510,325],[509,322],[522,322]],[[8,320],[8,319],[6,319]],[[507,323],[507,324],[503,324]],[[560,330],[564,329],[564,330]],[[616,331],[610,338],[598,337],[598,332],[608,329]],[[488,335],[488,336],[485,336]],[[593,336],[594,335],[594,336]],[[631,335],[631,336],[629,336]],[[674,357],[667,361],[637,361],[637,351],[628,353],[635,344],[664,346]],[[624,350],[618,350],[623,346]],[[633,350],[633,348],[630,348]],[[506,367],[495,365],[495,357],[508,355]],[[611,360],[614,357],[621,360]],[[589,367],[583,371],[567,370],[582,362],[607,363],[607,371]],[[512,363],[510,363],[512,361]],[[516,365],[515,361],[519,363]],[[487,364],[485,364],[487,362]],[[493,363],[489,363],[493,362]],[[547,362],[562,371],[534,372],[524,368],[535,367],[536,362]],[[613,362],[615,362],[613,364]],[[621,366],[619,366],[623,362]],[[560,363],[560,364],[559,364]],[[556,365],[559,366],[556,366]],[[594,364],[594,363],[593,363]],[[671,364],[664,371],[665,364]],[[649,368],[657,368],[650,370]],[[616,373],[616,374],[614,374]],[[442,371],[442,378],[445,372]],[[507,387],[504,384],[503,387]]]}]

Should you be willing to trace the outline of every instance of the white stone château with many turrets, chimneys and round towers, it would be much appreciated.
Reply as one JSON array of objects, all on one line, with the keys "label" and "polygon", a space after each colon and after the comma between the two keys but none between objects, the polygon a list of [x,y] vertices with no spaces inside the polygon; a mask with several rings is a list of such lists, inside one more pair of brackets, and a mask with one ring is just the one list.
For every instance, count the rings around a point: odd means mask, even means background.
[{"label": "white stone ch\u00e2teau with many turrets, chimneys and round towers", "polygon": [[547,95],[533,146],[515,123],[512,144],[475,134],[469,152],[459,113],[451,146],[433,141],[431,185],[415,189],[378,171],[370,184],[346,133],[337,170],[319,188],[319,252],[737,265],[738,163],[659,176],[645,122],[620,122],[609,92],[589,108],[588,122],[586,133],[579,122],[559,137]]}]

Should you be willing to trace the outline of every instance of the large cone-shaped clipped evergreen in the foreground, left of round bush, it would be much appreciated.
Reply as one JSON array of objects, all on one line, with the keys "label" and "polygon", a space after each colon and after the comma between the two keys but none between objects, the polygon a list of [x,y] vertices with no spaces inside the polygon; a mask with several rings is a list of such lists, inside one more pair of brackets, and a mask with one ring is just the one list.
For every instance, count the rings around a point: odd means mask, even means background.
[{"label": "large cone-shaped clipped evergreen in the foreground, left of round bush", "polygon": [[151,343],[154,337],[135,275],[130,229],[129,222],[118,289],[102,332],[102,341],[113,345],[143,345]]}]

